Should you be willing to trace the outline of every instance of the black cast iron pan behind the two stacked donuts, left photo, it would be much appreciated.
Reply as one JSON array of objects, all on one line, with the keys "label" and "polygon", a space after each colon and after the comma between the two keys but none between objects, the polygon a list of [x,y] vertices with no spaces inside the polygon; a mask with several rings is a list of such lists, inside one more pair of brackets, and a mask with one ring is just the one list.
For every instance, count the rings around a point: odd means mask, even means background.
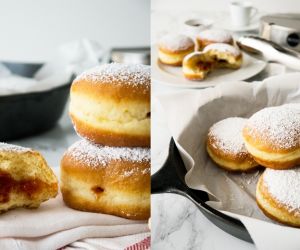
[{"label": "black cast iron pan behind the two stacked donuts, left photo", "polygon": [[[43,64],[4,63],[12,73],[32,77]],[[0,141],[35,135],[55,126],[66,105],[70,82],[37,93],[0,96]]]}]

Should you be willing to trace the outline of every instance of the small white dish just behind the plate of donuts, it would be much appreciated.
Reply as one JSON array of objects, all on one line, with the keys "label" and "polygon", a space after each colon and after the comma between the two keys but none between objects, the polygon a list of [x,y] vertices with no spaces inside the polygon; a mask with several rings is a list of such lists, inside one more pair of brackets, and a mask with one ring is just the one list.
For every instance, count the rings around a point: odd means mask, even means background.
[{"label": "small white dish just behind the plate of donuts", "polygon": [[189,19],[184,22],[184,34],[194,38],[200,31],[208,29],[213,21],[206,18]]}]

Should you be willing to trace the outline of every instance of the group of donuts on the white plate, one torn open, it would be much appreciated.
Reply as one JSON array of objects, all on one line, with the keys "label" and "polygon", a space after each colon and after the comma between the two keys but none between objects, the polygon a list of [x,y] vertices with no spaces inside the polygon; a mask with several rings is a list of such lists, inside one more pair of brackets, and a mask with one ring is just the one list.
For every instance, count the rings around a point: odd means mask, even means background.
[{"label": "group of donuts on the white plate, one torn open", "polygon": [[231,34],[217,29],[200,32],[195,41],[185,35],[162,37],[158,59],[162,64],[182,66],[183,75],[189,80],[202,80],[218,68],[238,69],[243,62]]}]

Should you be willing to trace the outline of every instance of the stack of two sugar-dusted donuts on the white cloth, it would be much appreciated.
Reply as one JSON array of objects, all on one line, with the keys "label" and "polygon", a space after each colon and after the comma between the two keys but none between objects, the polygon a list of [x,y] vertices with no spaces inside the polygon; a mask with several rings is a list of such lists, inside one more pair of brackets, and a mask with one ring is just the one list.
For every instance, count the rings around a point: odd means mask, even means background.
[{"label": "stack of two sugar-dusted donuts on the white cloth", "polygon": [[150,67],[105,64],[79,75],[69,113],[82,138],[61,160],[67,206],[150,217]]}]

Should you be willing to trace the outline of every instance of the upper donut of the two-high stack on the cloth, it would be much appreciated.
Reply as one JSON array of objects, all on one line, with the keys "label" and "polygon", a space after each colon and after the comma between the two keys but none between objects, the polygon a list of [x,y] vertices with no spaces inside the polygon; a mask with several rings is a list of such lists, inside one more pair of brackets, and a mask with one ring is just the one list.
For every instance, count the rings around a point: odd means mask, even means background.
[{"label": "upper donut of the two-high stack on the cloth", "polygon": [[69,113],[76,132],[94,143],[150,146],[150,67],[104,64],[71,86]]}]

